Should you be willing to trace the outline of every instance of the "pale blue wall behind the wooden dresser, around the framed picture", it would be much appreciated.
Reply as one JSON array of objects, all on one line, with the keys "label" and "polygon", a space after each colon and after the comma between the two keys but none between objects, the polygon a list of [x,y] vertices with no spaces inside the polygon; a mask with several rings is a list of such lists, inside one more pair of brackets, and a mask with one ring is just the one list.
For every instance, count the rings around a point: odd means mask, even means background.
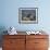
[{"label": "pale blue wall behind the wooden dresser, around the framed picture", "polygon": [[[0,29],[40,30],[50,34],[50,0],[0,0]],[[18,24],[18,8],[38,8],[38,24]]]}]

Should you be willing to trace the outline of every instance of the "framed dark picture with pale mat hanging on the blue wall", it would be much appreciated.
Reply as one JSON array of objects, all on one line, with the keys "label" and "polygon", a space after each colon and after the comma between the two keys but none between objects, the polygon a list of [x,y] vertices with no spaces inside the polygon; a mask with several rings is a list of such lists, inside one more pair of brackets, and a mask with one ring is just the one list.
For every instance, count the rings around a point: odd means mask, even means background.
[{"label": "framed dark picture with pale mat hanging on the blue wall", "polygon": [[38,8],[20,8],[18,23],[22,24],[37,24],[38,23]]}]

